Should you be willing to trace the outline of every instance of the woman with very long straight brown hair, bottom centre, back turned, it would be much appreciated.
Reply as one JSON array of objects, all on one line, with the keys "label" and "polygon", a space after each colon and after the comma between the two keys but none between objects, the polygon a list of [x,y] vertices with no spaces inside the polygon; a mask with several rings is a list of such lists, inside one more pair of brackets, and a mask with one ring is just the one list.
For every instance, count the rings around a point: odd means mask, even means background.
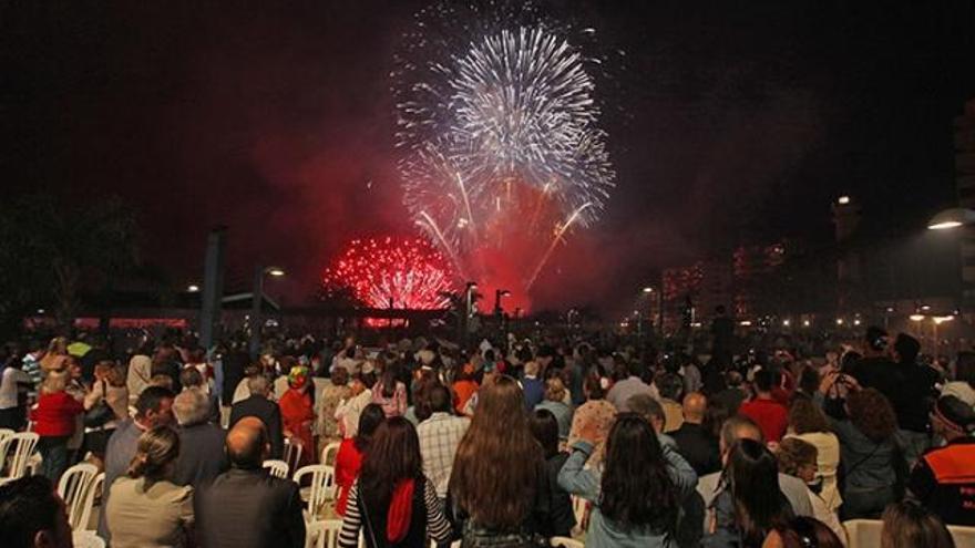
[{"label": "woman with very long straight brown hair, bottom centre, back turned", "polygon": [[465,546],[528,544],[548,523],[542,448],[528,428],[525,396],[506,375],[484,382],[478,410],[458,446],[451,511]]}]

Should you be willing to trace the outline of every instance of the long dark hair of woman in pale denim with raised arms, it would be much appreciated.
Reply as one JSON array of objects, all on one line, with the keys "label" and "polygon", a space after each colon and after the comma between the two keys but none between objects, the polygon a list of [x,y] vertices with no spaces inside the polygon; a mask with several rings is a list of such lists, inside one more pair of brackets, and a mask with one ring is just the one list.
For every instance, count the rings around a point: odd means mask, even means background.
[{"label": "long dark hair of woman in pale denim with raised arms", "polygon": [[620,413],[609,431],[599,509],[625,528],[677,529],[679,500],[664,449],[650,424],[636,413]]}]

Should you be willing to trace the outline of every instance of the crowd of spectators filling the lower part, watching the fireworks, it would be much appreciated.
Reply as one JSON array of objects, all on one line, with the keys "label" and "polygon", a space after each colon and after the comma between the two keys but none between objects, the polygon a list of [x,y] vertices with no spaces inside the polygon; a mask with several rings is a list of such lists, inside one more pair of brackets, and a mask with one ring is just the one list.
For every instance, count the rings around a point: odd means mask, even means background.
[{"label": "crowd of spectators filling the lower part, watching the fireworks", "polygon": [[[737,354],[719,333],[666,352],[308,335],[256,360],[143,342],[7,345],[0,428],[37,433],[41,464],[0,486],[3,546],[66,546],[52,486],[81,461],[105,473],[112,547],[301,547],[319,518],[348,548],[837,548],[850,519],[881,519],[884,548],[942,548],[975,526],[975,352],[944,366],[904,333]],[[264,467],[335,444],[327,508]]]}]

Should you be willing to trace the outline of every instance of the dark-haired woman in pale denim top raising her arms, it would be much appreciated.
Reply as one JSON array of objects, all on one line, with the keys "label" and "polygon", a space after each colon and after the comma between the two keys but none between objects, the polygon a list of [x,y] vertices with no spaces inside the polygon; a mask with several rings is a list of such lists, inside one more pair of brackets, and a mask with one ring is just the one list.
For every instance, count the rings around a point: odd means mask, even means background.
[{"label": "dark-haired woman in pale denim top raising her arms", "polygon": [[593,451],[593,431],[582,433],[558,484],[593,504],[586,542],[589,546],[669,546],[677,533],[681,500],[692,493],[697,476],[636,413],[623,413],[606,442],[602,474],[584,468]]}]

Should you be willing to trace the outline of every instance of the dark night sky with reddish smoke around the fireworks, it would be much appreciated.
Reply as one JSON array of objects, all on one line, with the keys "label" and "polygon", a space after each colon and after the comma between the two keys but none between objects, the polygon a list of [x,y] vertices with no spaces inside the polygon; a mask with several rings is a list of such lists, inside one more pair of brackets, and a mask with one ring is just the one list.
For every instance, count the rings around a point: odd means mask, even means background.
[{"label": "dark night sky with reddish smoke around the fireworks", "polygon": [[[389,73],[428,2],[284,3],[0,3],[4,195],[119,195],[176,280],[228,225],[228,285],[280,263],[292,302],[347,239],[412,230]],[[603,97],[617,189],[538,306],[609,308],[660,267],[828,240],[839,194],[878,234],[954,200],[975,3],[718,4],[541,2],[625,63]]]}]

